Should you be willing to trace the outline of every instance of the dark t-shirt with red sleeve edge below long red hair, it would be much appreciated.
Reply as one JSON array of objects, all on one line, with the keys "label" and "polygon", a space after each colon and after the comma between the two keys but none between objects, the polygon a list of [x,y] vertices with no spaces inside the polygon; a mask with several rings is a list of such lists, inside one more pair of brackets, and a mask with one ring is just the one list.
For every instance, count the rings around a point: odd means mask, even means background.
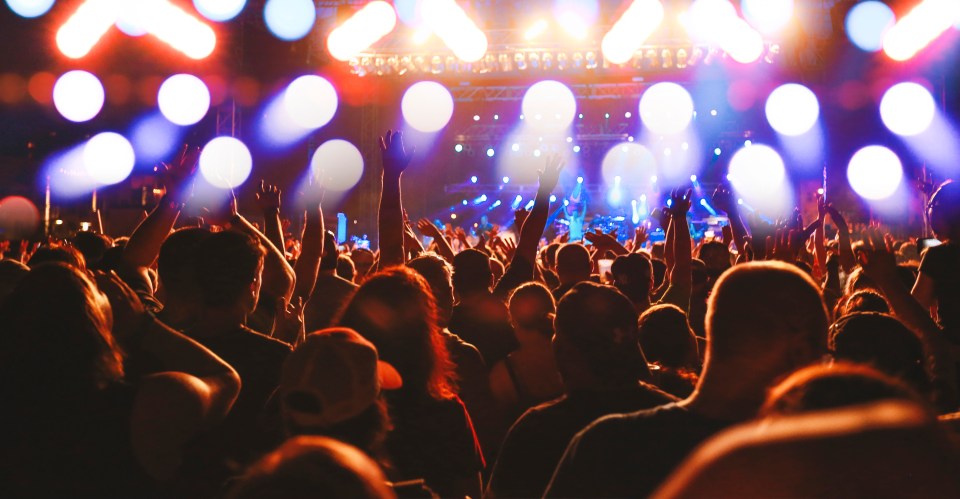
[{"label": "dark t-shirt with red sleeve edge below long red hair", "polygon": [[423,478],[441,497],[463,497],[457,481],[485,466],[463,402],[387,392],[394,429],[386,449],[402,480]]}]

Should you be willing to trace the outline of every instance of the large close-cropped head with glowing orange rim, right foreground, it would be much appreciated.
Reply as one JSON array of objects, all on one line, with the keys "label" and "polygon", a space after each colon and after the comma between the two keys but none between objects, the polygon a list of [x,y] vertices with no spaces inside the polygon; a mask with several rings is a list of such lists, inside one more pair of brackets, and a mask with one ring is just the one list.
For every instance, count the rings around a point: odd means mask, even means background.
[{"label": "large close-cropped head with glowing orange rim, right foreground", "polygon": [[739,396],[759,401],[766,385],[827,353],[827,317],[818,286],[793,265],[768,261],[731,268],[707,303],[707,353],[698,389],[716,376],[717,390],[739,389]]}]

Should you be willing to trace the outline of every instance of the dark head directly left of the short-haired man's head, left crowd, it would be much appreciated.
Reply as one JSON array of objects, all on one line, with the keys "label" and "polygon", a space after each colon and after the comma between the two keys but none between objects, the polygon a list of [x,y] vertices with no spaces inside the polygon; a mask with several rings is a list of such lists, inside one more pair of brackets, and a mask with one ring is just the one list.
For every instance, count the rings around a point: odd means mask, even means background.
[{"label": "dark head directly left of the short-haired man's head, left crowd", "polygon": [[160,278],[159,297],[165,304],[196,304],[200,301],[197,282],[197,255],[200,245],[211,236],[200,227],[185,227],[173,232],[160,246],[157,257],[157,275]]}]

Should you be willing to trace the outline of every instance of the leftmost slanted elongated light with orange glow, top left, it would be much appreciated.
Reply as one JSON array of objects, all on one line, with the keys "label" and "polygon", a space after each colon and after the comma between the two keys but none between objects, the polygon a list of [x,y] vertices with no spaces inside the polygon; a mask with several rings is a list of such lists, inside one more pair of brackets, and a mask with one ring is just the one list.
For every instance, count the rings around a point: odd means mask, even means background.
[{"label": "leftmost slanted elongated light with orange glow, top left", "polygon": [[87,0],[57,30],[57,48],[71,59],[88,53],[117,22],[122,0]]}]

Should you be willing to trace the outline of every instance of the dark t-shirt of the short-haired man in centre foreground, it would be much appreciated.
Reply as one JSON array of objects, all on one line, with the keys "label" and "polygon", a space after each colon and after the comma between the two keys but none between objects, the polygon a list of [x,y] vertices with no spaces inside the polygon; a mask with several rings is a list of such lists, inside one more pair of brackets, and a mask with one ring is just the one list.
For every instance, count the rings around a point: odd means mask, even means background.
[{"label": "dark t-shirt of the short-haired man in centre foreground", "polygon": [[575,392],[534,407],[513,424],[488,484],[495,497],[540,497],[570,439],[597,418],[676,401],[639,383],[628,390]]}]

